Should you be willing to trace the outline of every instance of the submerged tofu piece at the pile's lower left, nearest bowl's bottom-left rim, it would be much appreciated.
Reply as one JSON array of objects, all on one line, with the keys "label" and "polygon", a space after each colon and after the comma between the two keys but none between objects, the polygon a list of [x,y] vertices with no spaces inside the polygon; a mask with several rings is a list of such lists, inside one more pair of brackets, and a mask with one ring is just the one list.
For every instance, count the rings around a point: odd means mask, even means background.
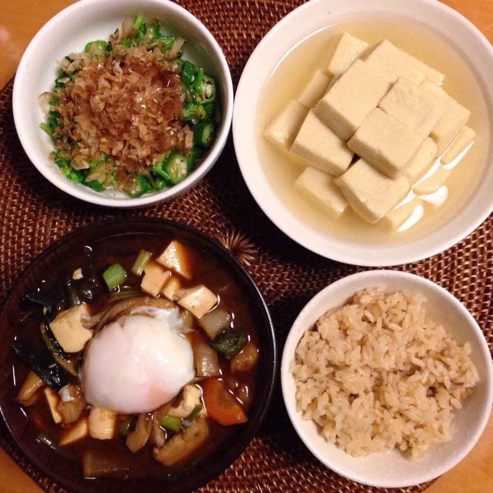
[{"label": "submerged tofu piece at the pile's lower left, nearest bowl's bottom-left rim", "polygon": [[347,208],[348,201],[334,185],[334,177],[309,166],[294,182],[294,186],[311,201],[323,207],[329,214],[340,216]]}]

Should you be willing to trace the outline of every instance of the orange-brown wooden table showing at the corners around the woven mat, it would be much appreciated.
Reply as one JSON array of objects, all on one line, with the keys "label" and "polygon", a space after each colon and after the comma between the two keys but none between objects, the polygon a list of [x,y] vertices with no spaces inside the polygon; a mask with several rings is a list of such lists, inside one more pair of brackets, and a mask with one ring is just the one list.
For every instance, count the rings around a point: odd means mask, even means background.
[{"label": "orange-brown wooden table showing at the corners around the woven mat", "polygon": [[[1,3],[0,87],[3,87],[14,74],[24,49],[37,30],[73,0],[1,0]],[[445,0],[444,3],[466,16],[493,43],[493,0]],[[493,413],[476,447],[426,493],[490,493],[493,491],[492,470]],[[41,491],[0,449],[0,493]]]}]

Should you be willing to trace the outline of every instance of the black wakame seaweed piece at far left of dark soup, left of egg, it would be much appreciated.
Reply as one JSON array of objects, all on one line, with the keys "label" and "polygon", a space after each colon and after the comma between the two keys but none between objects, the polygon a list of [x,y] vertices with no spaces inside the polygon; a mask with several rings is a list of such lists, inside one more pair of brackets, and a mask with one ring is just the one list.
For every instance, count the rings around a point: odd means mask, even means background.
[{"label": "black wakame seaweed piece at far left of dark soup, left of egg", "polygon": [[15,356],[45,381],[46,385],[56,390],[64,386],[60,367],[53,362],[47,351],[37,348],[28,337],[17,336],[10,348]]}]

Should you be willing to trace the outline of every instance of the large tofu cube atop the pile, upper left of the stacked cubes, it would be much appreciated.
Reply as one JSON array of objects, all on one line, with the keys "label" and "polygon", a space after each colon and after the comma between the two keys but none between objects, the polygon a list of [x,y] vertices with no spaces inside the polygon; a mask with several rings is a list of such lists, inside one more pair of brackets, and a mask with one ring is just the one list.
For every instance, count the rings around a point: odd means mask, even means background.
[{"label": "large tofu cube atop the pile, upper left of the stacked cubes", "polygon": [[340,139],[348,140],[389,89],[390,83],[356,60],[318,102],[315,112]]}]

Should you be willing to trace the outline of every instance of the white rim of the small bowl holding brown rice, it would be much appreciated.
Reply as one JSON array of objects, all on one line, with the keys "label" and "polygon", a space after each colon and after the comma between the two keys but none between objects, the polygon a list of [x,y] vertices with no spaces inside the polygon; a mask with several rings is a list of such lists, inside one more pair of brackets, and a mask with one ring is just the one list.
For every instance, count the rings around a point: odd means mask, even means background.
[{"label": "white rim of the small bowl holding brown rice", "polygon": [[[289,415],[289,419],[291,421],[291,424],[293,425],[293,428],[295,429],[296,433],[298,434],[299,438],[302,440],[302,442],[306,445],[306,447],[310,450],[310,452],[325,466],[328,468],[332,469],[334,472],[337,472],[339,475],[344,476],[345,478],[348,478],[352,481],[356,481],[358,483],[362,484],[367,484],[369,486],[376,486],[376,487],[381,487],[381,488],[404,488],[408,486],[413,486],[415,483],[411,484],[384,484],[384,483],[378,483],[378,482],[372,482],[372,481],[365,481],[362,478],[359,478],[355,475],[352,475],[351,473],[348,473],[347,471],[340,469],[339,467],[333,466],[330,464],[330,460],[327,458],[324,458],[321,456],[310,444],[309,440],[305,437],[304,433],[299,429],[298,427],[298,421],[300,421],[300,413],[296,411],[296,407],[292,406],[290,404],[290,398],[292,396],[288,396],[287,394],[287,380],[288,378],[293,378],[290,371],[289,371],[289,363],[292,359],[292,354],[289,354],[289,347],[293,345],[293,342],[296,346],[297,342],[299,342],[299,339],[302,335],[302,332],[300,331],[300,327],[306,318],[307,314],[310,313],[310,310],[312,306],[317,305],[319,300],[322,300],[325,298],[327,292],[331,292],[334,289],[337,289],[338,286],[342,286],[345,283],[350,282],[354,278],[359,278],[359,279],[365,279],[368,278],[368,286],[370,286],[372,283],[378,283],[377,278],[380,278],[381,280],[385,277],[394,277],[394,278],[401,278],[402,280],[407,280],[407,279],[414,279],[418,280],[418,282],[423,283],[424,285],[428,285],[434,290],[437,290],[442,296],[444,296],[453,306],[454,308],[457,308],[462,314],[469,320],[470,326],[473,328],[473,332],[475,337],[479,340],[481,350],[483,353],[483,356],[486,357],[487,359],[491,360],[491,353],[488,348],[488,344],[486,343],[486,340],[484,338],[484,334],[479,327],[476,319],[471,315],[471,313],[467,310],[467,308],[451,293],[449,293],[446,289],[442,288],[439,286],[437,283],[430,281],[429,279],[426,279],[425,277],[421,277],[416,274],[412,274],[409,272],[403,272],[403,271],[397,271],[397,270],[383,270],[383,269],[378,269],[378,270],[369,270],[369,271],[364,271],[364,272],[357,272],[355,274],[351,274],[349,276],[340,278],[334,282],[332,282],[330,285],[326,286],[324,289],[319,291],[313,298],[310,299],[310,301],[305,305],[305,307],[301,310],[299,315],[296,317],[293,325],[291,326],[291,329],[288,333],[288,337],[286,339],[285,347],[282,351],[282,357],[281,357],[281,366],[280,366],[280,376],[281,376],[281,390],[282,390],[282,398],[284,401],[284,405],[286,407],[286,410]],[[416,279],[417,278],[417,279]],[[328,307],[330,308],[335,308],[335,307]],[[321,315],[321,314],[320,314]],[[305,325],[305,324],[303,324]],[[307,330],[307,328],[305,328]],[[486,367],[486,380],[489,381],[490,383],[493,383],[493,364],[488,365]],[[488,408],[491,408],[493,406],[493,385],[487,386],[488,393],[486,396],[486,400],[489,403]],[[449,460],[446,463],[446,466],[443,468],[443,470],[437,475],[436,473],[429,473],[429,476],[424,475],[423,478],[420,478],[420,483],[424,483],[427,481],[431,481],[435,478],[438,478],[448,470],[450,470],[452,467],[456,466],[459,462],[464,459],[464,457],[467,456],[467,454],[471,451],[471,449],[476,445],[478,442],[479,438],[481,437],[481,434],[483,433],[487,423],[489,420],[489,413],[485,413],[482,416],[481,421],[478,423],[477,428],[475,430],[475,433],[473,434],[473,439],[469,442],[468,447],[464,447],[461,449],[461,453],[457,454],[453,459]]]}]

